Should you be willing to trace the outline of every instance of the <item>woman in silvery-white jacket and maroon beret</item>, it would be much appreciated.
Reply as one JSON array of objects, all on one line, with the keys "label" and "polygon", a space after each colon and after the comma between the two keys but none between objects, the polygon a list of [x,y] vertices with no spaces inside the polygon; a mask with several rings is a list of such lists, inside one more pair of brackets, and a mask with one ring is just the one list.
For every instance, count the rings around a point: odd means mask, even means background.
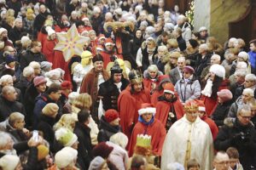
[{"label": "woman in silvery-white jacket and maroon beret", "polygon": [[182,103],[189,99],[199,99],[201,96],[201,85],[195,79],[194,69],[191,66],[183,68],[183,78],[178,80],[175,84],[175,91]]}]

